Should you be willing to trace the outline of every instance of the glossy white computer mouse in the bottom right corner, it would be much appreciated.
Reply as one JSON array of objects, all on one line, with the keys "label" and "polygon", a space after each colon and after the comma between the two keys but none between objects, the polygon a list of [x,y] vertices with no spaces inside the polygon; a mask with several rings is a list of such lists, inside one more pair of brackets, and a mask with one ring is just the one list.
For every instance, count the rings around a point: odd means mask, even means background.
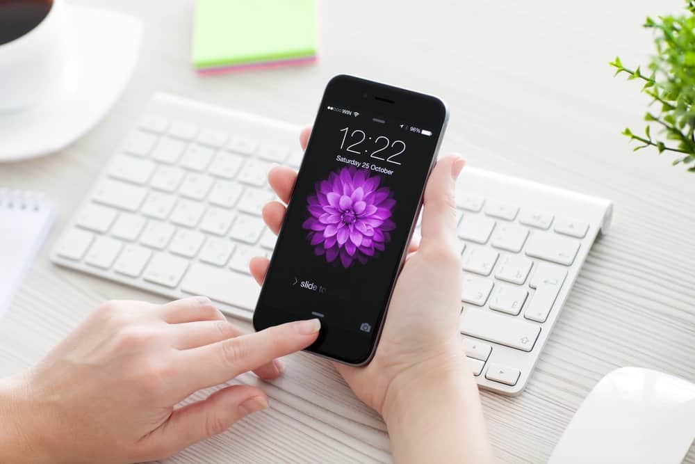
[{"label": "glossy white computer mouse in the bottom right corner", "polygon": [[584,399],[548,463],[676,464],[694,438],[694,383],[622,367]]}]

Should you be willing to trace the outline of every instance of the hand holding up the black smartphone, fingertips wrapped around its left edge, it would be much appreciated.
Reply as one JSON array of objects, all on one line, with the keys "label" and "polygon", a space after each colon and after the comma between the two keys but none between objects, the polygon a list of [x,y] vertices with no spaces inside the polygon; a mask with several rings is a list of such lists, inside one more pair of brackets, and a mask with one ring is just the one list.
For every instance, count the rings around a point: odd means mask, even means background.
[{"label": "hand holding up the black smartphone, fingertips wrapped around its left edge", "polygon": [[[302,148],[308,138],[309,129],[305,129],[300,138]],[[455,180],[463,166],[460,157],[443,157],[430,175],[424,196],[422,239],[419,247],[411,246],[398,277],[373,360],[366,367],[336,363],[357,396],[384,417],[395,442],[394,455],[413,462],[418,456],[427,456],[432,462],[457,456],[469,456],[471,462],[491,458],[480,399],[458,326],[461,264]],[[283,167],[272,169],[268,175],[270,185],[284,203],[289,200],[296,177],[295,171]],[[270,202],[263,209],[265,223],[276,234],[285,212],[281,202]],[[267,269],[268,259],[252,260],[251,271],[259,282]],[[439,426],[432,426],[434,423]],[[418,426],[424,430],[416,431]],[[431,444],[450,433],[455,435],[433,454]],[[461,444],[461,434],[466,433],[477,444],[459,454],[452,442]],[[402,446],[398,446],[400,442]],[[423,446],[418,447],[418,442]],[[447,449],[452,452],[450,456],[446,455]]]}]

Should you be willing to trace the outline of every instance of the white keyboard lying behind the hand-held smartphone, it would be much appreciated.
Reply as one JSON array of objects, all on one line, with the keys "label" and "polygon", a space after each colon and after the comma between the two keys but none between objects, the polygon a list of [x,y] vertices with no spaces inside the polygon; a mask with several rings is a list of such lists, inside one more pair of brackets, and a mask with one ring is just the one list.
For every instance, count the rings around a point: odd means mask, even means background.
[{"label": "white keyboard lying behind the hand-held smartphone", "polygon": [[[272,163],[297,168],[300,127],[157,94],[51,259],[170,298],[209,296],[251,319]],[[481,387],[523,390],[610,202],[466,168],[459,178],[461,333]],[[423,308],[426,311],[427,308]]]}]

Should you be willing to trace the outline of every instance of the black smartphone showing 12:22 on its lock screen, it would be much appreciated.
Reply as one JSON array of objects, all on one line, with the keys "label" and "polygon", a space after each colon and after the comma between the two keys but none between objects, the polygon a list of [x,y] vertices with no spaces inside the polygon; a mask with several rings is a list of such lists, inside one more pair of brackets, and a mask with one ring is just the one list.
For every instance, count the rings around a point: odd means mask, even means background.
[{"label": "black smartphone showing 12:22 on its lock screen", "polygon": [[432,95],[347,75],[329,81],[256,304],[256,330],[318,317],[318,339],[306,351],[349,365],[371,360],[447,120]]}]

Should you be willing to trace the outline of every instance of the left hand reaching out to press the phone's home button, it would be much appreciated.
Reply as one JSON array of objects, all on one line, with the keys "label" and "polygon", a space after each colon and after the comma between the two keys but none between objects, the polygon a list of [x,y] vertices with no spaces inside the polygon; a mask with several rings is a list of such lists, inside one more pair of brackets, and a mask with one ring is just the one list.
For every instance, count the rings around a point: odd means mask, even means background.
[{"label": "left hand reaching out to press the phone's home button", "polygon": [[316,340],[316,319],[243,335],[208,298],[112,301],[26,374],[0,379],[0,462],[122,463],[164,458],[268,407],[263,390],[226,386]]}]

